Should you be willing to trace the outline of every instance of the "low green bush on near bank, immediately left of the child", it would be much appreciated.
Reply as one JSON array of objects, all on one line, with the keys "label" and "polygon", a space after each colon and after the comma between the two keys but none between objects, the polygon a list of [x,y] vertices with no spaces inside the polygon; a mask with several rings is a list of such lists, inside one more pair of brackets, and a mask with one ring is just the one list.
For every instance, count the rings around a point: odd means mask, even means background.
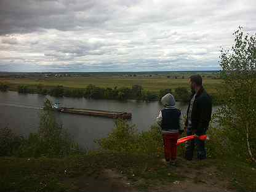
[{"label": "low green bush on near bank, immediately left of the child", "polygon": [[162,134],[157,126],[146,132],[138,133],[135,125],[118,119],[108,137],[97,140],[103,150],[118,153],[162,153]]}]

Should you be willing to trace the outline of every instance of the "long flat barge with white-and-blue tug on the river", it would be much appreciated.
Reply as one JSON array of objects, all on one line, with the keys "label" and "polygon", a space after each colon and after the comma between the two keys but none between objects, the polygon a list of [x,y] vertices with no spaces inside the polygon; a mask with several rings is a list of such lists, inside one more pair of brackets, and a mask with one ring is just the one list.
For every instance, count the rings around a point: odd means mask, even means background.
[{"label": "long flat barge with white-and-blue tug on the river", "polygon": [[105,111],[105,110],[91,110],[91,109],[76,109],[76,108],[65,108],[60,107],[59,103],[55,103],[52,108],[60,113],[73,113],[73,114],[84,114],[87,116],[100,116],[106,118],[121,118],[131,119],[132,113],[120,112],[120,111]]}]

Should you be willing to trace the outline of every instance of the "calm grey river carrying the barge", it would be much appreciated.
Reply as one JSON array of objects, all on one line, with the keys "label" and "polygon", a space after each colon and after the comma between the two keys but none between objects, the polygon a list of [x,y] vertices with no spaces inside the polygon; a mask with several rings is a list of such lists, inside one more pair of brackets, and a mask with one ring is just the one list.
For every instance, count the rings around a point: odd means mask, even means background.
[{"label": "calm grey river carrying the barge", "polygon": [[[127,111],[132,113],[132,119],[129,122],[135,124],[138,131],[150,129],[150,126],[155,123],[159,110],[162,109],[159,102],[54,98],[49,95],[18,94],[18,92],[8,91],[0,92],[0,127],[9,127],[16,134],[24,136],[28,136],[30,132],[36,132],[39,127],[40,108],[46,98],[52,102],[58,100],[64,107]],[[177,107],[183,114],[186,113],[187,105],[177,102]],[[114,128],[114,119],[111,118],[67,113],[56,113],[56,117],[74,140],[87,149],[97,148],[94,140],[106,137]]]}]

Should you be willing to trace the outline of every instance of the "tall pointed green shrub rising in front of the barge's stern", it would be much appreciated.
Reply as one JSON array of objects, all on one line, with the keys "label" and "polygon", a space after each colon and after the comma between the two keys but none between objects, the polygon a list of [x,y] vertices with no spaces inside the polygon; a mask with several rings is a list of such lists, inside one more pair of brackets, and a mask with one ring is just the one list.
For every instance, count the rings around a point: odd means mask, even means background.
[{"label": "tall pointed green shrub rising in front of the barge's stern", "polygon": [[40,114],[39,131],[30,134],[28,139],[22,143],[18,151],[19,156],[63,157],[78,152],[78,145],[73,142],[62,125],[56,121],[54,111],[52,111],[52,103],[46,100],[44,110]]}]

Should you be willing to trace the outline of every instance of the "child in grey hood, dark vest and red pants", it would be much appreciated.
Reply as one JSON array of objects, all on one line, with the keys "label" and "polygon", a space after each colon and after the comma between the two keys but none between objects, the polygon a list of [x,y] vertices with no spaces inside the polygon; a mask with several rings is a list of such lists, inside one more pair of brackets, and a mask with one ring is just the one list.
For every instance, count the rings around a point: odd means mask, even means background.
[{"label": "child in grey hood, dark vest and red pants", "polygon": [[175,165],[177,140],[184,130],[183,114],[175,107],[175,98],[172,94],[164,95],[161,103],[164,105],[164,109],[160,111],[156,121],[162,129],[166,161]]}]

